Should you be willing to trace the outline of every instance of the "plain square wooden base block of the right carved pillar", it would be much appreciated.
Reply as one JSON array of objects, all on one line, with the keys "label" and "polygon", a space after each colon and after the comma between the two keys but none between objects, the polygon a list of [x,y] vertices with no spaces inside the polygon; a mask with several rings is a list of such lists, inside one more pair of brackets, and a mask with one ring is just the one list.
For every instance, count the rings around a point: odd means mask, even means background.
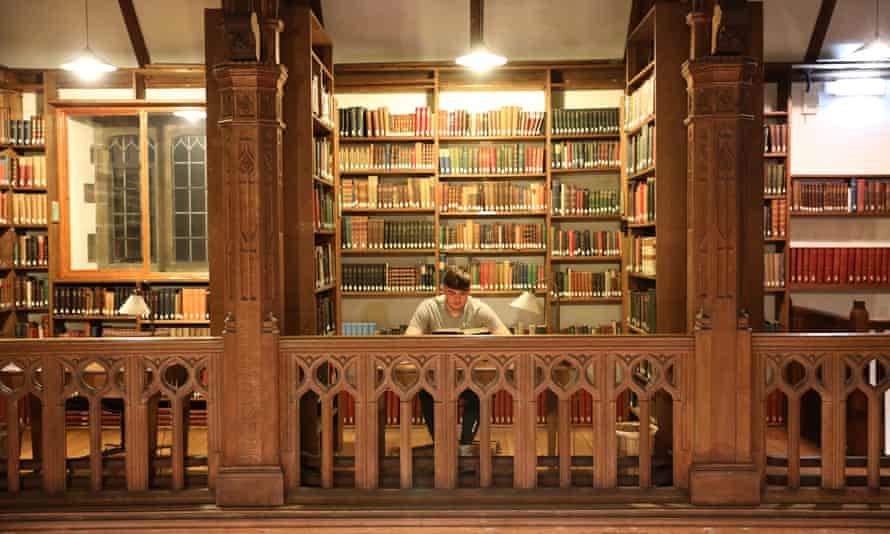
[{"label": "plain square wooden base block of the right carved pillar", "polygon": [[694,464],[689,497],[697,506],[760,504],[760,475],[754,464]]}]

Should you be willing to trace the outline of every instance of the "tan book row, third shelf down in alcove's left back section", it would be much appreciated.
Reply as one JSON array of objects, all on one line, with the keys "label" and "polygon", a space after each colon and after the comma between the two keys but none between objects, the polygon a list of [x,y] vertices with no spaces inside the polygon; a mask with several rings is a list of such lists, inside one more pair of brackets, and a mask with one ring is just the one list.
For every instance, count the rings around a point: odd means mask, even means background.
[{"label": "tan book row, third shelf down in alcove's left back section", "polygon": [[435,207],[432,178],[398,178],[380,182],[377,176],[340,181],[341,206],[347,209]]}]

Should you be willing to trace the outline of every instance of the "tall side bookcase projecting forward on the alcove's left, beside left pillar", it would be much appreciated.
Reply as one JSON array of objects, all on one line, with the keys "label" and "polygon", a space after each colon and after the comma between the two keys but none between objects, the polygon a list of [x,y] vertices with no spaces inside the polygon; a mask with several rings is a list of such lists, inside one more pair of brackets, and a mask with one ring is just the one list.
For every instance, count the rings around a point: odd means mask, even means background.
[{"label": "tall side bookcase projecting forward on the alcove's left, beside left pillar", "polygon": [[[340,323],[339,284],[324,283],[319,291],[316,254],[332,256],[331,277],[339,279],[337,244],[339,243],[339,143],[337,110],[333,95],[333,44],[308,5],[283,12],[281,63],[291,72],[304,73],[284,85],[283,134],[284,209],[284,320],[282,335],[323,335],[338,331]],[[316,150],[316,144],[329,150]],[[330,176],[325,176],[328,169]],[[382,170],[352,170],[354,174],[381,174]],[[315,223],[315,199],[329,199],[333,210],[332,229]],[[324,262],[322,262],[324,263]],[[330,289],[327,289],[330,286]],[[330,313],[328,313],[330,312]],[[319,327],[324,315],[327,327]],[[330,315],[328,317],[328,315]]]}]

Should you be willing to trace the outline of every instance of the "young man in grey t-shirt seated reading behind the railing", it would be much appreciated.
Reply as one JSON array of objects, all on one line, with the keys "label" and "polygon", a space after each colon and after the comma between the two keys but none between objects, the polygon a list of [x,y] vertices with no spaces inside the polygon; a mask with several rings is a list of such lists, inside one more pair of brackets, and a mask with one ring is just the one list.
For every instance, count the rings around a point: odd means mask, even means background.
[{"label": "young man in grey t-shirt seated reading behind the railing", "polygon": [[[442,278],[442,295],[428,298],[417,306],[405,335],[419,336],[436,330],[469,328],[487,328],[496,336],[510,335],[510,331],[487,304],[470,296],[470,275],[460,267],[451,266]],[[479,425],[479,397],[466,390],[460,398],[464,402],[460,444],[461,454],[465,454]],[[421,390],[420,403],[427,430],[435,440],[432,395]]]}]

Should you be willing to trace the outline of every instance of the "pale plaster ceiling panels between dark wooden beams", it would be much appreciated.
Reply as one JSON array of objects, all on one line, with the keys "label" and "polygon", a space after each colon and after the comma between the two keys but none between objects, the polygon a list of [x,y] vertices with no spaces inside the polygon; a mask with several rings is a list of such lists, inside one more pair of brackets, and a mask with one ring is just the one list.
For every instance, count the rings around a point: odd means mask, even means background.
[{"label": "pale plaster ceiling panels between dark wooden beams", "polygon": [[[879,21],[890,34],[890,0]],[[120,0],[89,0],[90,45],[119,67],[138,62]],[[487,0],[485,39],[511,60],[620,59],[631,0]],[[152,63],[203,61],[203,10],[221,0],[133,0]],[[822,0],[764,0],[765,59],[804,59]],[[836,0],[820,57],[874,33],[874,0]],[[469,0],[322,0],[337,63],[441,61],[469,45]],[[126,10],[125,10],[126,11]],[[0,64],[53,68],[85,44],[81,0],[0,0]]]}]

